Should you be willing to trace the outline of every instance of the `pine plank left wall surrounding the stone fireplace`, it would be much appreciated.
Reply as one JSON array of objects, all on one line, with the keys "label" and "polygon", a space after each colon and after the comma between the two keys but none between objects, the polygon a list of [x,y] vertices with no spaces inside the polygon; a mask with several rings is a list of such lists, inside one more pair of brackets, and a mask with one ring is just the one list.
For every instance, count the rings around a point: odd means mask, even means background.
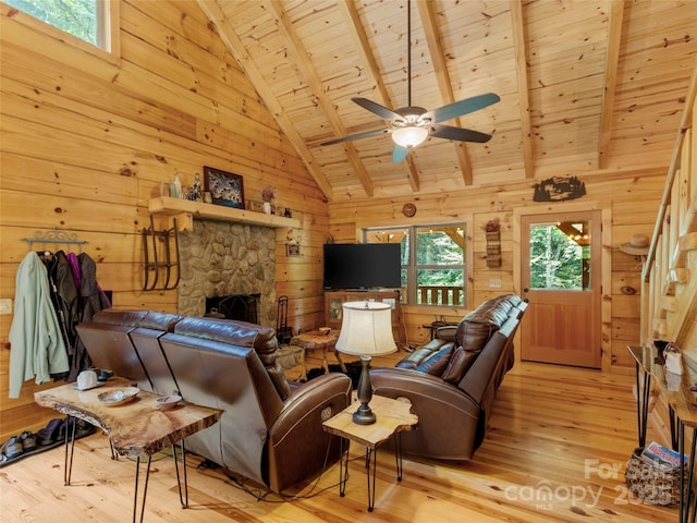
[{"label": "pine plank left wall surrounding the stone fireplace", "polygon": [[[292,232],[299,259],[285,256],[279,231],[278,290],[293,304],[291,325],[319,325],[319,253],[328,236],[321,192],[197,3],[121,3],[121,57],[71,47],[0,4],[0,297],[14,297],[27,252],[21,239],[58,227],[88,242],[83,250],[114,306],[176,312],[176,290],[142,290],[147,202],[175,172],[189,185],[213,165],[242,174],[248,198],[260,199],[260,187],[273,184],[277,204],[301,218]],[[2,345],[11,320],[0,318]],[[0,360],[0,378],[7,373]],[[21,427],[32,429],[50,416],[33,411],[34,388],[26,387],[21,412],[0,406],[4,436],[7,419],[32,421]]]}]

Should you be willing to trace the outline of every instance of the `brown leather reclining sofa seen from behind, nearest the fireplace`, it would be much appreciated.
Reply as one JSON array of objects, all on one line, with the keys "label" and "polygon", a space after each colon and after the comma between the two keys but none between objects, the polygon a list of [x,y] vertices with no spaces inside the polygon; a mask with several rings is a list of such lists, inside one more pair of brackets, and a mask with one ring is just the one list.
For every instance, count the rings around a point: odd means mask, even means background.
[{"label": "brown leather reclining sofa seen from behind, nearest the fireplace", "polygon": [[291,384],[276,363],[276,332],[227,319],[106,309],[77,331],[97,368],[159,394],[223,410],[186,449],[276,492],[339,459],[322,421],[351,402],[351,379],[327,374]]}]

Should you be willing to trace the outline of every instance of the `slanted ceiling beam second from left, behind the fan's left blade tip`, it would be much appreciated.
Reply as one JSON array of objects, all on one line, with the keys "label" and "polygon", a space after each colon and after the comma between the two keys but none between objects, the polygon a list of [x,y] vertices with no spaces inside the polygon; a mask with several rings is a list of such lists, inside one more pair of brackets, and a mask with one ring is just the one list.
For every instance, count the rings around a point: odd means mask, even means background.
[{"label": "slanted ceiling beam second from left, behind the fan's left blade tip", "polygon": [[[315,65],[309,59],[309,52],[305,49],[303,41],[295,32],[293,24],[289,20],[288,13],[283,9],[283,4],[279,0],[271,0],[268,2],[269,12],[273,16],[273,20],[286,44],[288,58],[292,59],[295,65],[298,68],[301,75],[307,82],[307,85],[313,93],[313,96],[317,99],[319,107],[321,107],[325,117],[329,121],[333,133],[337,136],[345,136],[346,127],[344,126],[339,113],[337,112],[334,104],[327,95],[322,81],[315,69]],[[348,161],[353,167],[363,190],[368,196],[374,195],[374,185],[368,170],[366,169],[356,147],[351,142],[343,143],[344,150],[348,156]]]}]

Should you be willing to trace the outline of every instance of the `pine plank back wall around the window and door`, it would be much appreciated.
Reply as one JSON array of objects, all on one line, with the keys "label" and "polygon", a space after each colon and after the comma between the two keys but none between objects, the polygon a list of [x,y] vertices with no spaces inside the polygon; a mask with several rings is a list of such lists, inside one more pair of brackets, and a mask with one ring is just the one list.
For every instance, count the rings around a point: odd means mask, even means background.
[{"label": "pine plank back wall around the window and door", "polygon": [[[437,223],[440,221],[451,221],[460,216],[458,212],[449,212],[450,209],[467,209],[472,212],[470,219],[465,219],[473,227],[469,229],[473,234],[470,241],[474,247],[474,278],[469,287],[474,290],[472,306],[478,305],[481,301],[500,295],[504,292],[521,293],[517,288],[519,278],[515,264],[516,250],[519,248],[517,240],[514,238],[515,222],[514,215],[521,209],[535,209],[535,212],[545,212],[553,208],[576,209],[576,208],[603,208],[603,368],[613,372],[627,373],[633,369],[631,361],[624,357],[622,351],[626,352],[626,343],[613,343],[613,332],[615,318],[619,328],[628,328],[629,332],[622,332],[621,336],[638,340],[640,335],[640,294],[624,295],[622,285],[614,283],[615,272],[619,279],[626,279],[628,275],[635,275],[637,281],[641,271],[641,263],[633,256],[620,252],[620,243],[628,242],[636,233],[650,233],[651,222],[656,218],[656,209],[660,203],[660,191],[664,183],[664,173],[659,173],[655,169],[647,169],[646,175],[634,175],[633,173],[611,172],[609,174],[600,172],[598,175],[584,177],[588,195],[573,203],[563,205],[548,205],[531,202],[531,186],[529,183],[506,184],[502,187],[468,187],[460,192],[451,192],[443,199],[443,195],[421,195],[416,202],[417,217],[423,223]],[[640,205],[637,206],[637,199]],[[404,218],[399,216],[399,209],[404,202],[387,199],[384,202],[356,200],[350,204],[332,203],[330,205],[330,232],[337,238],[351,238],[355,235],[355,230],[362,227],[374,227],[381,223],[381,220],[399,223]],[[637,211],[637,207],[640,210]],[[633,210],[634,209],[634,210]],[[486,235],[484,226],[491,219],[499,218],[501,221],[501,250],[503,265],[500,270],[494,270],[486,266]],[[478,227],[480,226],[480,227]],[[489,288],[489,279],[500,279],[501,289]],[[638,288],[637,288],[638,290]],[[615,303],[616,302],[616,303]],[[421,333],[419,325],[423,324],[424,315],[432,313],[420,312],[425,307],[404,307],[404,317],[407,321],[407,333],[409,338],[418,338]],[[447,311],[447,314],[453,311]],[[460,316],[461,318],[462,316]],[[620,349],[621,348],[621,349]],[[616,354],[616,357],[614,357]]]}]

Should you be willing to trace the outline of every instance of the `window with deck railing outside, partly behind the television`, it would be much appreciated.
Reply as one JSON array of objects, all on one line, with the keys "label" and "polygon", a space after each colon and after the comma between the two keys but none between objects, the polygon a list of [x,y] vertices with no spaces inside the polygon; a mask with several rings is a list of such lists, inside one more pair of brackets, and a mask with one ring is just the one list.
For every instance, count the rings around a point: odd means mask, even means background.
[{"label": "window with deck railing outside, partly behind the television", "polygon": [[402,244],[402,294],[414,305],[465,306],[465,224],[367,229],[368,243]]}]

